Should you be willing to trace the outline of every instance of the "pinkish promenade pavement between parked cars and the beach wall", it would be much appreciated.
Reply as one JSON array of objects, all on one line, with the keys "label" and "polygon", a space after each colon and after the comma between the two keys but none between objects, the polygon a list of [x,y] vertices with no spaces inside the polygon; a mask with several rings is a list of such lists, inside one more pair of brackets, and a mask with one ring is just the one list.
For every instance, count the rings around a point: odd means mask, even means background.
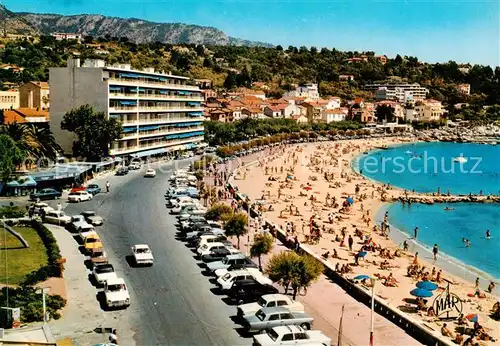
[{"label": "pinkish promenade pavement between parked cars and the beach wall", "polygon": [[[248,239],[251,242],[254,234],[255,231],[251,230],[249,238],[244,236],[240,240],[240,249],[247,255],[249,254]],[[236,241],[236,239],[234,240]],[[289,250],[276,239],[270,255],[281,251]],[[268,259],[269,256],[262,257],[263,268],[266,267]],[[280,287],[280,291],[283,292],[282,287]],[[321,330],[330,337],[333,345],[337,345],[342,306],[345,306],[342,322],[342,345],[369,345],[370,309],[352,298],[326,276],[321,275],[319,280],[307,289],[307,294],[298,295],[297,300],[304,305],[306,312],[314,317],[313,328]],[[384,346],[421,345],[401,328],[377,314],[374,317],[374,340],[376,345]]]}]

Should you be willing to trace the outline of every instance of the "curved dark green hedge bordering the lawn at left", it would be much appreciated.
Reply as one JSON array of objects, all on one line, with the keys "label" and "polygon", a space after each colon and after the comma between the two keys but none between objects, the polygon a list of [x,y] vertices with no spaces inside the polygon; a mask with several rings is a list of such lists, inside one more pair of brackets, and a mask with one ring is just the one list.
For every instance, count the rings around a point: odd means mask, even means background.
[{"label": "curved dark green hedge bordering the lawn at left", "polygon": [[62,258],[61,251],[52,232],[37,220],[23,221],[23,223],[32,227],[38,233],[40,239],[42,239],[47,251],[47,265],[26,275],[22,284],[34,285],[37,282],[47,280],[49,277],[60,277],[62,273],[58,262]]}]

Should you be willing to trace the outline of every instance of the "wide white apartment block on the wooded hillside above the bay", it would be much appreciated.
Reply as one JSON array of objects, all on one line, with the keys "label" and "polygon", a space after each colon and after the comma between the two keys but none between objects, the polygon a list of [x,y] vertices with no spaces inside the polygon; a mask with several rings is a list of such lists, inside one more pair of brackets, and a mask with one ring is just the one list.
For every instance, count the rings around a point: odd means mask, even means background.
[{"label": "wide white apartment block on the wooded hillside above the bay", "polygon": [[398,102],[425,100],[429,90],[418,83],[368,84],[366,90],[375,92],[377,100],[396,100]]}]

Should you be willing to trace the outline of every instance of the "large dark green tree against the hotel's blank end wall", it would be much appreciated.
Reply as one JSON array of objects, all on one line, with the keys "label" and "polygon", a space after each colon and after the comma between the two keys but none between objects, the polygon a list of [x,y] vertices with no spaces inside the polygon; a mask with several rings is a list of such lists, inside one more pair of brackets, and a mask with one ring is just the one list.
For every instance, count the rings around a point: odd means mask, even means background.
[{"label": "large dark green tree against the hotel's blank end wall", "polygon": [[67,112],[61,128],[74,132],[77,136],[77,140],[73,142],[73,155],[89,161],[98,161],[108,156],[110,144],[122,134],[122,125],[117,119],[106,119],[104,112],[96,112],[90,105]]}]

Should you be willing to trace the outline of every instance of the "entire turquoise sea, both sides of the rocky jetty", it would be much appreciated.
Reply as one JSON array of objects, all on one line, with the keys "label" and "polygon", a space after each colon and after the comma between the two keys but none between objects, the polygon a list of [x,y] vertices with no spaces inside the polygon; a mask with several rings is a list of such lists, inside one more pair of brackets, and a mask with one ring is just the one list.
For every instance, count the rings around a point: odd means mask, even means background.
[{"label": "entire turquoise sea, both sides of the rocky jetty", "polygon": [[[431,193],[439,188],[443,194],[448,190],[452,194],[500,194],[500,146],[405,144],[361,155],[353,168],[369,179],[409,191]],[[390,236],[399,245],[406,239],[410,250],[420,249],[430,258],[430,249],[437,244],[438,262],[446,262],[446,269],[452,269],[453,274],[470,280],[480,276],[485,284],[500,280],[500,204],[390,203],[379,211],[378,221],[386,211]],[[413,239],[415,227],[419,228],[417,239]],[[490,239],[486,238],[487,230]],[[463,238],[470,241],[470,247]]]}]

